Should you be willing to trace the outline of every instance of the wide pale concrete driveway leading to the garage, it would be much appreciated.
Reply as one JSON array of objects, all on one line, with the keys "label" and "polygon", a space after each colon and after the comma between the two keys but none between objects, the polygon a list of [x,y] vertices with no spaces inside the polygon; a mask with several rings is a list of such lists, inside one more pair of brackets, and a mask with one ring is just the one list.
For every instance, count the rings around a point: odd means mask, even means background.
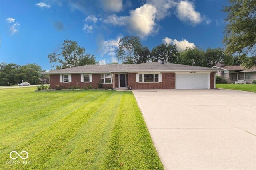
[{"label": "wide pale concrete driveway leading to the garage", "polygon": [[255,93],[132,91],[167,170],[256,169]]}]

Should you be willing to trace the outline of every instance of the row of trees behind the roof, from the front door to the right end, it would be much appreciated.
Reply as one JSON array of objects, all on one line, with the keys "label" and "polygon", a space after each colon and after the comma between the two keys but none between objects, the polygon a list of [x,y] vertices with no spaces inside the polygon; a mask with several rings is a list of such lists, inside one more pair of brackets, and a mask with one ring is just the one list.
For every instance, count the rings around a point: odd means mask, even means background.
[{"label": "row of trees behind the roof, from the front door to the right end", "polygon": [[178,51],[176,45],[161,44],[154,47],[151,51],[146,46],[142,46],[139,37],[126,36],[120,39],[119,48],[116,50],[116,57],[122,64],[140,64],[150,61],[159,61],[164,58],[165,62],[212,67],[219,62],[225,65],[240,65],[238,56],[225,54],[224,49],[208,48],[206,50],[199,47],[186,48]]}]

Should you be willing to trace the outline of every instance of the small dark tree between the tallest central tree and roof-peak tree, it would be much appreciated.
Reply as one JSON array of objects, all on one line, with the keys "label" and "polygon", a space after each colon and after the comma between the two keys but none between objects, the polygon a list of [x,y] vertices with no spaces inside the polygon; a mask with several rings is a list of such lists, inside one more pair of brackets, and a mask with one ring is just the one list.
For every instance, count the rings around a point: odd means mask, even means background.
[{"label": "small dark tree between the tallest central tree and roof-peak tree", "polygon": [[148,47],[146,46],[142,47],[142,49],[140,50],[136,50],[135,53],[136,54],[134,58],[135,58],[136,64],[146,63],[151,60],[152,54],[148,49]]}]

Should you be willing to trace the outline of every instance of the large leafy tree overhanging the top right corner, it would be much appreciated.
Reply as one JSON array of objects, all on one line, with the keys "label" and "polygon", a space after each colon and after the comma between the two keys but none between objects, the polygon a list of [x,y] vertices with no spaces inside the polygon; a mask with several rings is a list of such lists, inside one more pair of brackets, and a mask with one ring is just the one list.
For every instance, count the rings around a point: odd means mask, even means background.
[{"label": "large leafy tree overhanging the top right corner", "polygon": [[225,28],[223,43],[226,44],[226,53],[247,53],[251,58],[240,57],[242,65],[250,68],[256,65],[256,1],[230,0],[230,6],[225,6],[228,13],[225,19],[228,24]]}]

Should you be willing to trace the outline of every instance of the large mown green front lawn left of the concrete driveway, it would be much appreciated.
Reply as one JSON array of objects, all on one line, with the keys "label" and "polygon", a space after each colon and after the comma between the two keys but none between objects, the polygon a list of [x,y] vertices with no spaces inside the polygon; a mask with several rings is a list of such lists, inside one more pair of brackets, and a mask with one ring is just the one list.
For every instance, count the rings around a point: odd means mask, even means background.
[{"label": "large mown green front lawn left of the concrete driveway", "polygon": [[0,90],[0,169],[163,169],[132,92],[35,89]]}]

